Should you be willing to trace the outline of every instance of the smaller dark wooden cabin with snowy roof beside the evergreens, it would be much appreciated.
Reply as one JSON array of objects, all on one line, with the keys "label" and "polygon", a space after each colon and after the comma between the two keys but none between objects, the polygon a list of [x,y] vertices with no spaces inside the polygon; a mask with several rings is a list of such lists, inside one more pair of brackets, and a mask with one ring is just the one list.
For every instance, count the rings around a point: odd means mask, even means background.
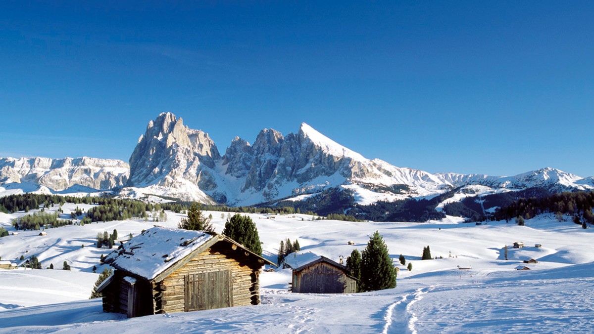
[{"label": "smaller dark wooden cabin with snowy roof beside the evergreens", "polygon": [[285,263],[293,269],[292,292],[350,294],[357,292],[357,279],[346,266],[314,253],[289,255]]}]

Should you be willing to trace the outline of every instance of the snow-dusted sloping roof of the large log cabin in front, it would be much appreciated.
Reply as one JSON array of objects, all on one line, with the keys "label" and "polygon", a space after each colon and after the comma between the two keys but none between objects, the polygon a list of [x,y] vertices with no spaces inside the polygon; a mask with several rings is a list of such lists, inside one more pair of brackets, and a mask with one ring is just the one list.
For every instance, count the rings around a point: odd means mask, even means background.
[{"label": "snow-dusted sloping roof of the large log cabin in front", "polygon": [[[185,262],[181,260],[187,258],[188,255],[203,252],[220,240],[236,244],[249,252],[241,244],[214,232],[156,226],[119,246],[117,250],[106,256],[103,262],[109,263],[113,268],[133,273],[151,281],[168,269],[183,265]],[[255,253],[249,253],[264,260],[267,264],[274,265]]]}]

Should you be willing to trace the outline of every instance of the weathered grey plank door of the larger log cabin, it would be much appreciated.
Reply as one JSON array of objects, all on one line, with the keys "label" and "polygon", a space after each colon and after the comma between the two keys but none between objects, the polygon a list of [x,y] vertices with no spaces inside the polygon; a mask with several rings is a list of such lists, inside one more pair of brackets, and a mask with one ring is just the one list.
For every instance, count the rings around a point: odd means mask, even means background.
[{"label": "weathered grey plank door of the larger log cabin", "polygon": [[230,271],[191,273],[185,276],[185,311],[233,306]]}]

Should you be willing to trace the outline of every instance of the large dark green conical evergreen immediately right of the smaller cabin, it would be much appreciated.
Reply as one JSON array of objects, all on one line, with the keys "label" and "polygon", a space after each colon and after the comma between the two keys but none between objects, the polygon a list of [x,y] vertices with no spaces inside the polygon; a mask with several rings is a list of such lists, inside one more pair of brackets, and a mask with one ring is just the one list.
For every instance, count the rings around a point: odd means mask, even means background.
[{"label": "large dark green conical evergreen immediately right of the smaller cabin", "polygon": [[378,231],[369,237],[361,255],[361,283],[363,291],[396,287],[396,271],[384,238]]}]

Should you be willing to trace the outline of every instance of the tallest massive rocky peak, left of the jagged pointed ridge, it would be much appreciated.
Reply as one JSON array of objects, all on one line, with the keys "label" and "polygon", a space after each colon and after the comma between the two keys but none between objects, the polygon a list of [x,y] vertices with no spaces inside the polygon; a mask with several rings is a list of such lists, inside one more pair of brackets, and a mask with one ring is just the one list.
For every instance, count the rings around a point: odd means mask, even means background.
[{"label": "tallest massive rocky peak, left of the jagged pointed ridge", "polygon": [[185,181],[211,190],[217,186],[211,168],[219,159],[207,133],[189,129],[172,113],[162,113],[149,122],[132,152],[128,186],[176,187]]}]

